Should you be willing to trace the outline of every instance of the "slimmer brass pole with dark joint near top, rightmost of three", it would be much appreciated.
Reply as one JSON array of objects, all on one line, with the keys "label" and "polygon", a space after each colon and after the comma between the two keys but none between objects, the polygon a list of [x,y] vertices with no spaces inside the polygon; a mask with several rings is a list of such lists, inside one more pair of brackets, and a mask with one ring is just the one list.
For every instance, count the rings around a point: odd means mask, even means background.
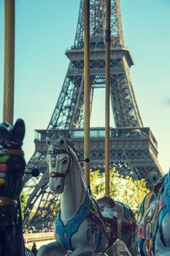
[{"label": "slimmer brass pole with dark joint near top, rightmost of three", "polygon": [[107,27],[106,27],[106,56],[105,56],[105,195],[109,196],[109,62],[110,62],[110,0],[107,0]]}]

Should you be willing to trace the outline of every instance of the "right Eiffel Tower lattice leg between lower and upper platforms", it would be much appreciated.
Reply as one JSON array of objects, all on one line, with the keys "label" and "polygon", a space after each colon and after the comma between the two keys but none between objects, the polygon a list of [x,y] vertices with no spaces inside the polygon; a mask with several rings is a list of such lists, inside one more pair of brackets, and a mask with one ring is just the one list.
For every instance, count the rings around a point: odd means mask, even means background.
[{"label": "right Eiffel Tower lattice leg between lower and upper platforms", "polygon": [[111,102],[116,127],[142,127],[125,60],[111,61]]}]

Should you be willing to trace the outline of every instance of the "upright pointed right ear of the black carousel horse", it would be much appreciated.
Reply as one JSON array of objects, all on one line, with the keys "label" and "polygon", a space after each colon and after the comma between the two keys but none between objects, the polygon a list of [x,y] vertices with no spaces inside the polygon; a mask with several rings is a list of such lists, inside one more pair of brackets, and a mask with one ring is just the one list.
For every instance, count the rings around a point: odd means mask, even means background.
[{"label": "upright pointed right ear of the black carousel horse", "polygon": [[18,138],[18,140],[20,140],[20,142],[23,142],[23,138],[26,132],[24,121],[22,119],[18,119],[15,122],[15,125],[12,127],[11,132],[12,132],[12,135],[14,135],[15,137]]}]

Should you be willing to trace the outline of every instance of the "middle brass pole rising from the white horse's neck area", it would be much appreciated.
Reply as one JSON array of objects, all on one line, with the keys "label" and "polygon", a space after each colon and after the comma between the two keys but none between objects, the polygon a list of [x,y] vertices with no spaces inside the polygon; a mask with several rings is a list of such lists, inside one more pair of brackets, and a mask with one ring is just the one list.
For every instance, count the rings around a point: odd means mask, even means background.
[{"label": "middle brass pole rising from the white horse's neck area", "polygon": [[[85,79],[85,138],[84,138],[84,157],[90,159],[90,1],[84,1],[84,79]],[[85,179],[90,186],[90,162],[85,162]]]}]

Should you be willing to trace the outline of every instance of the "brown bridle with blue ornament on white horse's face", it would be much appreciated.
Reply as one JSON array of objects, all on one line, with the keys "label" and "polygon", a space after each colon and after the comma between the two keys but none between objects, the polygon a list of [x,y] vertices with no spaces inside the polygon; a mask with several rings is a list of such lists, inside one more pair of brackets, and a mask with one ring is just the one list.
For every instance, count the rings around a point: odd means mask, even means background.
[{"label": "brown bridle with blue ornament on white horse's face", "polygon": [[51,178],[58,178],[61,177],[63,178],[63,182],[66,179],[66,176],[68,173],[70,173],[70,171],[72,170],[72,164],[73,164],[73,157],[72,157],[72,152],[70,151],[70,148],[66,148],[66,149],[53,149],[51,151],[47,151],[47,154],[50,154],[50,161],[51,161],[51,165],[52,167],[55,167],[55,161],[56,161],[56,156],[57,154],[67,154],[69,155],[69,165],[67,167],[67,170],[65,173],[58,173],[58,172],[51,172],[50,173],[50,177]]}]

